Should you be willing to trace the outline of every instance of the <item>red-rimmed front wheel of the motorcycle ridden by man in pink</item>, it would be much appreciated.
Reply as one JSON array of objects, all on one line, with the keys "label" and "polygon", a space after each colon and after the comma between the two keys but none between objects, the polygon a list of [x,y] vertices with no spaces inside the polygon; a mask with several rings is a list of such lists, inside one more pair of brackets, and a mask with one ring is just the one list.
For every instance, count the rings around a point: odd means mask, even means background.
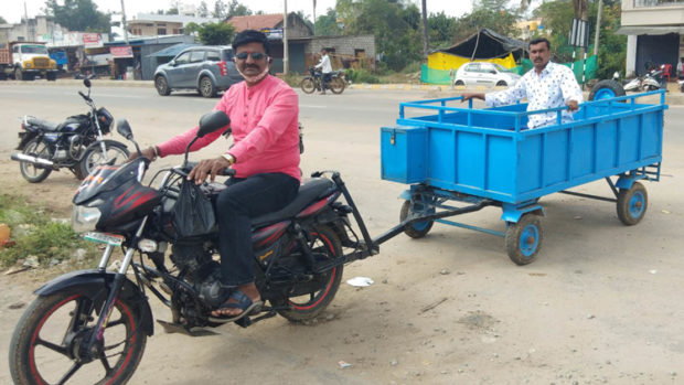
[{"label": "red-rimmed front wheel of the motorcycle ridden by man in pink", "polygon": [[132,303],[118,299],[101,343],[95,344],[95,357],[78,357],[83,341],[104,310],[98,307],[104,306],[106,295],[106,290],[96,293],[76,287],[36,298],[17,324],[10,343],[14,383],[126,384],[147,342]]}]

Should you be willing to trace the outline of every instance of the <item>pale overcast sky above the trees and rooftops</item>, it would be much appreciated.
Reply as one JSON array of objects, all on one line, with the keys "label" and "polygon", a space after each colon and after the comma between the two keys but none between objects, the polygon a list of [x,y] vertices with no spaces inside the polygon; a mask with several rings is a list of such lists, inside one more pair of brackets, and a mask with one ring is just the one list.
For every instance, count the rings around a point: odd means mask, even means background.
[{"label": "pale overcast sky above the trees and rooftops", "polygon": [[[97,9],[103,12],[121,10],[121,0],[94,0]],[[185,4],[200,4],[202,0],[181,0]],[[412,0],[418,4],[420,9],[420,0]],[[210,11],[214,8],[214,0],[205,0]],[[229,0],[224,0],[228,3]],[[247,6],[252,11],[264,11],[266,13],[280,13],[285,10],[284,0],[243,0],[242,4]],[[0,7],[0,15],[8,23],[19,23],[24,14],[24,3],[29,18],[36,14],[43,14],[41,11],[45,7],[45,0],[3,0]],[[57,0],[57,3],[63,1]],[[124,0],[126,7],[127,19],[132,19],[138,13],[152,13],[159,9],[170,9],[175,1],[171,0]],[[321,15],[329,8],[334,8],[335,0],[317,0],[316,14]],[[470,12],[472,7],[471,0],[427,0],[428,13],[438,13],[443,11],[451,17],[460,17]],[[313,0],[287,0],[288,12],[303,11],[306,15],[313,14]]]}]

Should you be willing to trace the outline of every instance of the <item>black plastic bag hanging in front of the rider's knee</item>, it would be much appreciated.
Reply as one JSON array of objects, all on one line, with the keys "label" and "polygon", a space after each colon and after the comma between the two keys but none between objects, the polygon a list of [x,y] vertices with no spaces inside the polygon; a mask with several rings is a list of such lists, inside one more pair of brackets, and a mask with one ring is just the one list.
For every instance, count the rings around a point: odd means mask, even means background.
[{"label": "black plastic bag hanging in front of the rider's knee", "polygon": [[207,234],[216,225],[212,201],[192,181],[183,180],[173,206],[173,227],[181,237]]}]

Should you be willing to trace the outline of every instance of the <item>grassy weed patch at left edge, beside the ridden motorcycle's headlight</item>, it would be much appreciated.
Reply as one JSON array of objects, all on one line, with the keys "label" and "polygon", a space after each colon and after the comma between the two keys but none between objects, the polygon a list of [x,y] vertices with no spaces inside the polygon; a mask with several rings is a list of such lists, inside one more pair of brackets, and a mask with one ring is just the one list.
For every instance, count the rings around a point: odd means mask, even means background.
[{"label": "grassy weed patch at left edge, beside the ridden motorcycle's headlight", "polygon": [[0,223],[10,227],[14,246],[0,250],[0,265],[7,267],[17,260],[36,256],[41,265],[74,256],[78,248],[94,255],[96,247],[72,231],[70,224],[53,221],[45,207],[26,203],[17,195],[0,194]]}]

